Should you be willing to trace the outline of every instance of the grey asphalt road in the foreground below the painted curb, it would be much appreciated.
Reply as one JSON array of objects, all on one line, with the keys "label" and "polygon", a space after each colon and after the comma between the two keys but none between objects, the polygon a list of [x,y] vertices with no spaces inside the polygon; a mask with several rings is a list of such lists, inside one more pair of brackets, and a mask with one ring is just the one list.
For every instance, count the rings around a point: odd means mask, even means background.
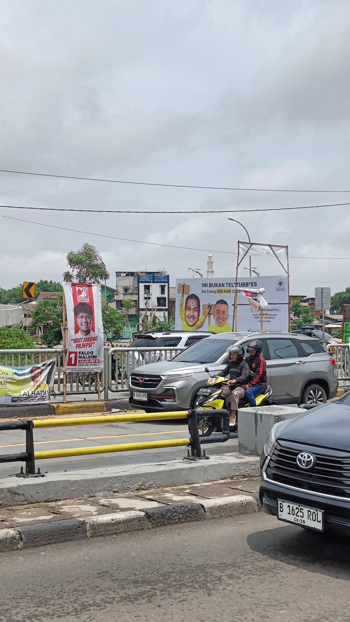
[{"label": "grey asphalt road in the foreground below the painted curb", "polygon": [[350,541],[262,513],[2,553],[0,575],[0,622],[350,620]]}]

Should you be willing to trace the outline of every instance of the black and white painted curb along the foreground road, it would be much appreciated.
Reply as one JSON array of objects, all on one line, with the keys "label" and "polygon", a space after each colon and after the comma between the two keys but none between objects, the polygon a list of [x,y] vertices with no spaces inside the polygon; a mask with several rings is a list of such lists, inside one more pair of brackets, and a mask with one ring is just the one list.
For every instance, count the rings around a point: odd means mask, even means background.
[{"label": "black and white painted curb along the foreground road", "polygon": [[102,514],[86,519],[63,519],[33,525],[0,529],[0,552],[32,549],[45,544],[111,536],[142,529],[156,529],[184,522],[229,518],[257,513],[257,502],[249,494],[203,499],[199,502],[175,503],[170,506]]}]

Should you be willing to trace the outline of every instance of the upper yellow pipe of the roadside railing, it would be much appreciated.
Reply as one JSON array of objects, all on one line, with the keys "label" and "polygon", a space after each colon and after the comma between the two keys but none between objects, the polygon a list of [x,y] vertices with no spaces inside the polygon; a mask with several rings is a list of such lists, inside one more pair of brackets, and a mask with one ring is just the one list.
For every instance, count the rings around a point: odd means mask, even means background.
[{"label": "upper yellow pipe of the roadside railing", "polygon": [[52,419],[34,419],[35,428],[65,427],[66,425],[93,425],[125,423],[133,421],[162,421],[164,419],[187,419],[188,411],[152,412],[142,415],[101,415],[96,417],[65,417]]}]

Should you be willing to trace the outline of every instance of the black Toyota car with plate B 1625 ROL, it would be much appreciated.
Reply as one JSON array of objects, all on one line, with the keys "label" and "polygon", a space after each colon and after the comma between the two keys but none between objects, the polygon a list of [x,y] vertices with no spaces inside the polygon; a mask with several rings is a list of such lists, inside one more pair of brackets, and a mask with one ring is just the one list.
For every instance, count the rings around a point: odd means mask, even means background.
[{"label": "black Toyota car with plate B 1625 ROL", "polygon": [[275,424],[260,470],[264,512],[316,531],[350,532],[350,391]]}]

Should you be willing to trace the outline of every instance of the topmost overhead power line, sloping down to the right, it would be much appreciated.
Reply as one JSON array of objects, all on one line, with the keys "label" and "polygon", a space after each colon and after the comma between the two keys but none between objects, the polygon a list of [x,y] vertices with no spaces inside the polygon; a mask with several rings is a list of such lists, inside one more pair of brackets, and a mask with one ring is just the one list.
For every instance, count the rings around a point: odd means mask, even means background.
[{"label": "topmost overhead power line, sloping down to the right", "polygon": [[58,179],[80,179],[88,182],[126,183],[136,186],[160,186],[163,188],[198,188],[200,190],[242,190],[244,192],[350,192],[350,190],[281,190],[277,188],[230,188],[221,186],[195,186],[185,183],[154,183],[154,182],[126,182],[119,179],[99,179],[98,177],[76,177],[74,175],[52,175],[49,173],[32,173],[27,170],[0,169],[1,173],[14,173],[17,175],[36,175],[37,177],[57,177]]}]

